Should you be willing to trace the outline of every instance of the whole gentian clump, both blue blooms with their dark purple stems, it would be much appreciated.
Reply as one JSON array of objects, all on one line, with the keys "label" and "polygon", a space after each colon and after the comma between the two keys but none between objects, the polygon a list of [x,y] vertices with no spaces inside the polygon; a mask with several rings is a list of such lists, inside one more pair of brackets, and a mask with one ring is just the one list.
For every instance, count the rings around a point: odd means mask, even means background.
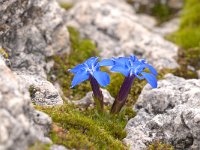
[{"label": "whole gentian clump, both blue blooms with their dark purple stems", "polygon": [[[131,90],[131,86],[135,78],[140,80],[146,79],[146,81],[153,87],[157,87],[157,71],[148,64],[144,59],[138,60],[136,56],[119,57],[112,59],[104,59],[101,62],[97,62],[98,57],[91,57],[83,64],[75,66],[69,71],[74,73],[75,76],[72,80],[72,86],[89,79],[93,90],[93,96],[99,112],[103,111],[103,94],[99,88],[99,84],[106,86],[110,83],[109,75],[100,71],[100,66],[112,66],[110,69],[113,72],[119,72],[125,76],[124,82],[115,98],[115,101],[111,108],[111,113],[119,113],[121,108],[125,105],[128,94]],[[151,73],[145,72],[148,69]]]}]

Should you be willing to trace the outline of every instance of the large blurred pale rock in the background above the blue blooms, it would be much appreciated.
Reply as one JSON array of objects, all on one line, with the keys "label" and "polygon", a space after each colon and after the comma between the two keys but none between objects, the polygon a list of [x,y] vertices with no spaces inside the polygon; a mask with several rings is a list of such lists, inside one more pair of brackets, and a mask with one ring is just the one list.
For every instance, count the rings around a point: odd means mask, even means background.
[{"label": "large blurred pale rock in the background above the blue blooms", "polygon": [[[130,55],[147,58],[157,68],[175,68],[178,47],[150,32],[149,22],[123,1],[81,1],[70,9],[67,24],[95,41],[102,57]],[[164,55],[163,55],[164,54]]]}]

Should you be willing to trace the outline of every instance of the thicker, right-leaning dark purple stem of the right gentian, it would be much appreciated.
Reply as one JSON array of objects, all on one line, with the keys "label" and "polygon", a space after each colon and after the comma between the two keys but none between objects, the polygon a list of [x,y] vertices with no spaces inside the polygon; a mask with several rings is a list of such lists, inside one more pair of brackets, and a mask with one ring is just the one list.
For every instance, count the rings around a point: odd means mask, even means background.
[{"label": "thicker, right-leaning dark purple stem of the right gentian", "polygon": [[131,86],[133,84],[134,79],[135,79],[135,75],[125,77],[124,82],[122,83],[121,88],[118,92],[118,95],[115,98],[115,101],[112,105],[112,108],[110,111],[111,114],[119,113],[121,108],[126,103],[126,100],[131,90]]}]

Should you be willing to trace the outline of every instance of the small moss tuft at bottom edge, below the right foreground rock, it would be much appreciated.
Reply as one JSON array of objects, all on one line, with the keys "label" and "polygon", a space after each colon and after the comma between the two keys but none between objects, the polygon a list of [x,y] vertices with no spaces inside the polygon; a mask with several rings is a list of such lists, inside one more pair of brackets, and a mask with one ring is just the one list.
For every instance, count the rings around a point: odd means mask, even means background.
[{"label": "small moss tuft at bottom edge, below the right foreground rock", "polygon": [[174,150],[174,147],[170,144],[155,141],[154,143],[149,145],[147,150]]}]

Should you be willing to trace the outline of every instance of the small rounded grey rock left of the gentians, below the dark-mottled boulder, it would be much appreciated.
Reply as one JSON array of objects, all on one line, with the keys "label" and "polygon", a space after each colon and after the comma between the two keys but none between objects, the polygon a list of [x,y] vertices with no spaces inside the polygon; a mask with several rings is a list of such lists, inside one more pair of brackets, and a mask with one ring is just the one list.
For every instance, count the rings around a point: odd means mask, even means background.
[{"label": "small rounded grey rock left of the gentians, below the dark-mottled boulder", "polygon": [[59,91],[49,81],[38,76],[24,74],[18,74],[18,78],[27,89],[30,89],[31,100],[36,105],[51,106],[63,104]]}]

